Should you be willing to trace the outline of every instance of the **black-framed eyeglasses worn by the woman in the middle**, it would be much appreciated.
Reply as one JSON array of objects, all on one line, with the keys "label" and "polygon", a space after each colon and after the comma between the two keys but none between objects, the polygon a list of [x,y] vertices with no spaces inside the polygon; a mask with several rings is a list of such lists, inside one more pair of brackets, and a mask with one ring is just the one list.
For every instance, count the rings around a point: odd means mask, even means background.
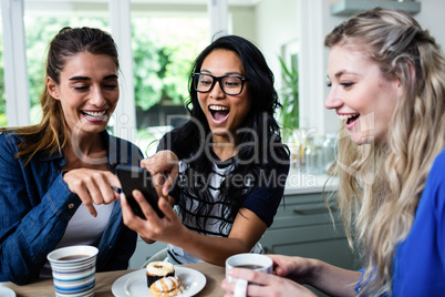
[{"label": "black-framed eyeglasses worn by the woman in the middle", "polygon": [[239,75],[214,76],[207,73],[193,73],[192,76],[196,92],[210,92],[216,82],[219,82],[222,92],[228,95],[239,95],[242,92],[245,82],[249,81],[249,79]]}]

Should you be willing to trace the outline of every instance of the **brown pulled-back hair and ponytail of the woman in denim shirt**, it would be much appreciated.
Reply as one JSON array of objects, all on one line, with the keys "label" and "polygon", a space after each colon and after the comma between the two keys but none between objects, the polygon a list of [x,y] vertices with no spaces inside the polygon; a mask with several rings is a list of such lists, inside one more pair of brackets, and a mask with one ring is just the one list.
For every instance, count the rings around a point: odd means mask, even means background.
[{"label": "brown pulled-back hair and ponytail of the woman in denim shirt", "polygon": [[[81,52],[110,55],[118,69],[117,48],[113,38],[94,28],[63,28],[51,41],[46,58],[46,76],[56,84],[66,59]],[[40,95],[42,120],[37,125],[1,127],[0,132],[14,131],[22,137],[17,157],[23,156],[27,164],[37,153],[52,154],[63,150],[66,144],[66,124],[59,100],[52,98],[46,85]]]}]

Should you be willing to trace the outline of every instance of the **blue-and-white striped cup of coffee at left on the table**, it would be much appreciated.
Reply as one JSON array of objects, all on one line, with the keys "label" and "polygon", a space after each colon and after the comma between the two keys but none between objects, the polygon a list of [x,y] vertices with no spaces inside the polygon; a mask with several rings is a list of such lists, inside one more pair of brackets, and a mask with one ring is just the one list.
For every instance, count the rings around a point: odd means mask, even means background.
[{"label": "blue-and-white striped cup of coffee at left on the table", "polygon": [[76,245],[48,254],[55,296],[94,296],[97,253],[94,246]]}]

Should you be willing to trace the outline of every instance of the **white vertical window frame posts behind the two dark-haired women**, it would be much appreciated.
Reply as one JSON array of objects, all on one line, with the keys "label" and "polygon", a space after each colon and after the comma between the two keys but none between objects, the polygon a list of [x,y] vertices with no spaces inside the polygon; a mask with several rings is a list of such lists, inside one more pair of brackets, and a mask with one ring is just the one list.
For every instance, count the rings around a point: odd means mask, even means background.
[{"label": "white vertical window frame posts behind the two dark-haired women", "polygon": [[[228,1],[206,0],[210,35],[227,33]],[[35,2],[35,1],[34,1]],[[114,112],[113,133],[134,142],[136,140],[136,106],[131,49],[131,0],[96,0],[108,3],[111,34],[118,49],[121,100]],[[37,4],[37,3],[32,3]],[[65,3],[69,6],[69,3]],[[27,69],[23,0],[2,0],[4,91],[8,126],[30,124],[29,79]],[[13,99],[13,100],[8,100]],[[124,103],[125,102],[125,103]]]}]

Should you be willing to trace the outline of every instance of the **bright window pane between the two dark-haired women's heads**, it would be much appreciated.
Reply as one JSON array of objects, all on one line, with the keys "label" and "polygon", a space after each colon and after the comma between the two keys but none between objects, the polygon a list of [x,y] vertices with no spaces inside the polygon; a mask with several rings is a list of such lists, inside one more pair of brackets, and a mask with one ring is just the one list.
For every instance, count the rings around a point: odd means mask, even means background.
[{"label": "bright window pane between the two dark-haired women's heads", "polygon": [[137,144],[147,155],[185,121],[188,74],[208,44],[207,16],[138,13],[132,18]]}]

